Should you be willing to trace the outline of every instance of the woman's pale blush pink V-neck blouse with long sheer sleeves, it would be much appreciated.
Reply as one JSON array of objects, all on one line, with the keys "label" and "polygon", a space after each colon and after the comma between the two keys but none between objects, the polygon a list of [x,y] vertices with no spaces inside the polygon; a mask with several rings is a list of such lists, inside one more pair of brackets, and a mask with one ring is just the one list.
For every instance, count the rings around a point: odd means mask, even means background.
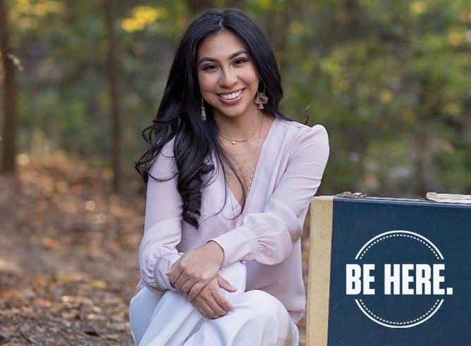
[{"label": "woman's pale blush pink V-neck blouse with long sheer sleeves", "polygon": [[[174,140],[154,161],[150,173],[157,178],[176,173]],[[216,173],[209,173],[207,186],[202,187],[198,230],[183,221],[177,177],[166,182],[149,177],[137,289],[176,290],[165,275],[172,264],[186,251],[214,240],[224,249],[223,266],[245,261],[246,290],[263,290],[278,298],[297,323],[305,312],[302,225],[328,158],[329,137],[322,125],[311,128],[275,118],[260,149],[245,209],[235,220],[231,218],[238,215],[240,204],[212,156]]]}]

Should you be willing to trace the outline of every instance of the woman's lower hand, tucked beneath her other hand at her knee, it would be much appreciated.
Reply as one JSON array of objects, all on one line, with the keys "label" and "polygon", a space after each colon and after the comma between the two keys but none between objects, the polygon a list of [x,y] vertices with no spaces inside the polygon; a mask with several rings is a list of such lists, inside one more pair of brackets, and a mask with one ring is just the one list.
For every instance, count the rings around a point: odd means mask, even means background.
[{"label": "woman's lower hand, tucked beneath her other hand at her knee", "polygon": [[190,300],[192,306],[205,319],[219,319],[219,317],[225,316],[229,311],[233,311],[231,303],[222,295],[220,287],[228,292],[236,292],[237,290],[224,280],[222,276],[217,274],[216,278],[210,280],[195,299]]}]

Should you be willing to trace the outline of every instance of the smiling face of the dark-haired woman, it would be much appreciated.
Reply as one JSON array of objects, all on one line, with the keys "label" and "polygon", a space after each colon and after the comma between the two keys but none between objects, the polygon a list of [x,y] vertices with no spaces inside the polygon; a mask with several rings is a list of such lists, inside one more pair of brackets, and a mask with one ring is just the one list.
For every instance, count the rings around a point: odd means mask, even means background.
[{"label": "smiling face of the dark-haired woman", "polygon": [[213,107],[214,116],[257,112],[258,73],[233,32],[223,30],[202,40],[197,72],[202,97]]}]

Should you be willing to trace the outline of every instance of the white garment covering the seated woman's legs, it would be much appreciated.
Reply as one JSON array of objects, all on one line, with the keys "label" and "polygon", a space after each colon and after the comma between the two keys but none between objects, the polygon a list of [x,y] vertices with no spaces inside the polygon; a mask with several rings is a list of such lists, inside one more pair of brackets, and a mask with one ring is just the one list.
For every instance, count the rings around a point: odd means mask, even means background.
[{"label": "white garment covering the seated woman's legs", "polygon": [[234,311],[205,319],[179,292],[157,295],[142,288],[130,301],[129,317],[138,346],[298,346],[299,330],[274,296],[261,290],[245,292],[245,264],[222,268],[220,275],[236,287],[221,289]]}]

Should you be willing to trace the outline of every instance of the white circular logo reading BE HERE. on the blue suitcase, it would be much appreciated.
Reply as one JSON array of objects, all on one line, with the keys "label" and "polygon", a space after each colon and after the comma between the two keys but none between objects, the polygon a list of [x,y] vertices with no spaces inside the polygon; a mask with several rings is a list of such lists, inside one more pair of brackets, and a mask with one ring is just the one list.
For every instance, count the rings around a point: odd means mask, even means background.
[{"label": "white circular logo reading BE HERE. on the blue suitcase", "polygon": [[346,293],[372,321],[410,328],[439,311],[444,295],[444,257],[426,237],[393,230],[369,240],[346,265]]}]

